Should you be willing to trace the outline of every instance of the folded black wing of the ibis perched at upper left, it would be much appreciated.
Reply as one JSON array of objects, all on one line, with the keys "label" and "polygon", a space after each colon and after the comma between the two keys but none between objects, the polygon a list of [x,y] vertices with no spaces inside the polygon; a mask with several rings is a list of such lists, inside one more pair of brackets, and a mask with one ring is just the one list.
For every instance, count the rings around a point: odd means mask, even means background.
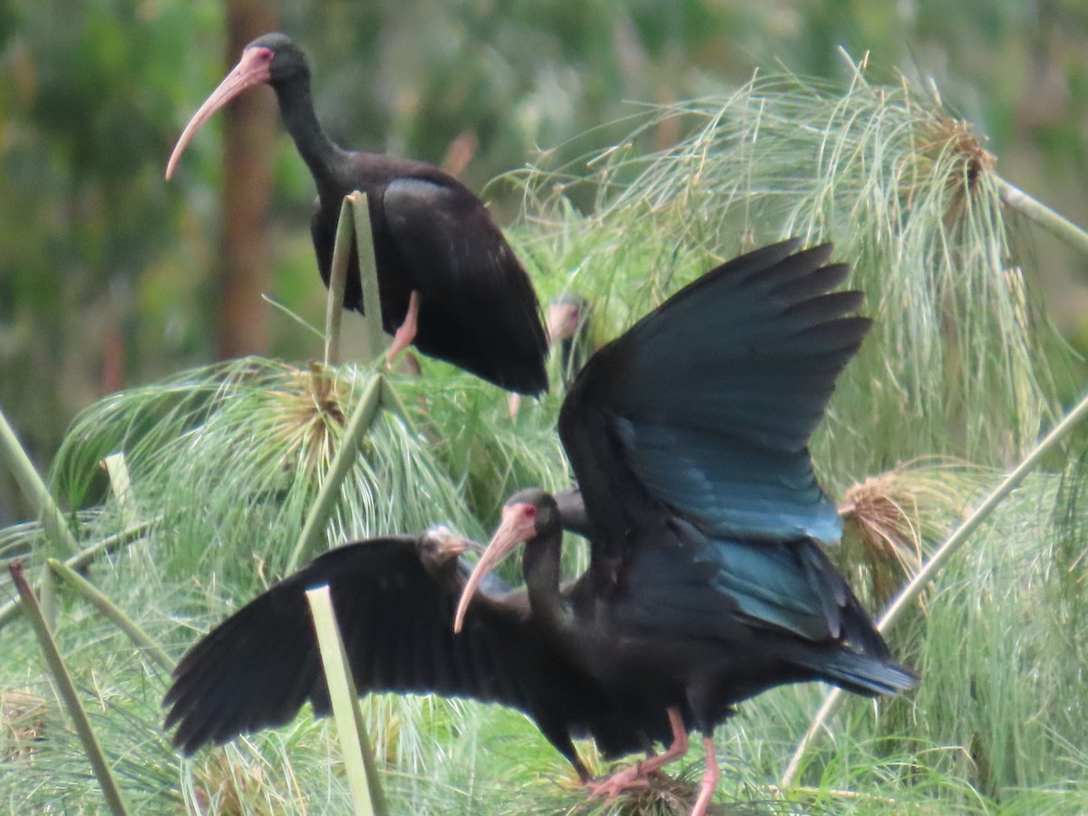
[{"label": "folded black wing of the ibis perched at upper left", "polygon": [[421,293],[420,350],[508,390],[547,391],[536,294],[480,200],[453,180],[406,176],[386,187],[383,208]]}]

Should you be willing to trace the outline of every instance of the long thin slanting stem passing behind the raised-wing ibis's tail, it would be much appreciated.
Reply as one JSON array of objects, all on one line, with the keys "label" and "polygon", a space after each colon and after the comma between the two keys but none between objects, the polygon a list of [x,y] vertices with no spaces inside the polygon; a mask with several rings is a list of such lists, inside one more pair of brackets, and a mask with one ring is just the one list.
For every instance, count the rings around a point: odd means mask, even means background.
[{"label": "long thin slanting stem passing behind the raised-wing ibis's tail", "polygon": [[[960,547],[964,545],[972,533],[974,533],[981,526],[987,517],[993,512],[994,508],[1001,504],[1033,470],[1038,467],[1039,462],[1042,461],[1042,458],[1050,453],[1051,448],[1065,438],[1070,431],[1072,431],[1086,415],[1088,415],[1088,396],[1085,396],[1077,404],[1077,406],[1070,411],[1038,445],[1035,446],[1035,449],[1033,449],[1031,453],[1028,454],[1018,466],[1016,466],[1016,469],[1006,475],[1002,480],[1001,484],[999,484],[993,492],[990,493],[990,495],[988,495],[977,508],[975,508],[975,511],[964,519],[963,523],[955,529],[948,540],[941,544],[937,552],[934,553],[929,561],[927,561],[918,573],[911,579],[911,582],[903,588],[903,590],[885,611],[883,616],[881,616],[880,622],[877,623],[877,629],[880,632],[888,631],[888,629],[895,623],[903,611],[914,603],[918,595],[922,594],[922,591],[926,588],[926,585],[937,576],[949,559],[955,555]],[[816,713],[816,717],[808,727],[808,731],[805,733],[804,739],[801,740],[796,751],[793,752],[793,756],[790,758],[790,764],[787,766],[786,772],[782,775],[782,781],[780,783],[781,788],[789,788],[793,784],[801,769],[801,761],[804,758],[805,752],[818,739],[818,735],[824,731],[824,724],[829,717],[839,710],[844,698],[845,696],[842,689],[833,689],[824,700],[824,704]]]}]

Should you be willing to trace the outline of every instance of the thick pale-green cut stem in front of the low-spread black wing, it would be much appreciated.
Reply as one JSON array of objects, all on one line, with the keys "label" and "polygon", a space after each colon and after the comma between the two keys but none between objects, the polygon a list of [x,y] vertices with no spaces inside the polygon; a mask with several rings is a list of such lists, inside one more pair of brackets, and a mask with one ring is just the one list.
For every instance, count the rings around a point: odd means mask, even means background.
[{"label": "thick pale-green cut stem in front of the low-spread black wing", "polygon": [[329,689],[333,719],[339,733],[344,769],[351,789],[356,813],[363,816],[387,816],[385,796],[378,778],[374,752],[367,739],[367,726],[359,710],[359,694],[348,669],[347,654],[336,615],[333,610],[329,585],[307,590],[306,599],[313,617],[321,664]]}]

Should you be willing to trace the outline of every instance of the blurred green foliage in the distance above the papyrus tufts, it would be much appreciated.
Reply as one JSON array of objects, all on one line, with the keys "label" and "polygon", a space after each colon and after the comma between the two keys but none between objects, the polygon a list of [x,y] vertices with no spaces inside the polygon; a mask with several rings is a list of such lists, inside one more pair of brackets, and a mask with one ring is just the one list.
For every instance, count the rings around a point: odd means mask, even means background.
[{"label": "blurred green foliage in the distance above the papyrus tufts", "polygon": [[[311,58],[337,141],[440,162],[463,139],[474,149],[462,177],[503,220],[520,194],[490,180],[542,160],[577,170],[630,132],[620,120],[638,103],[729,90],[776,64],[842,78],[841,47],[871,52],[889,77],[932,77],[990,137],[999,172],[1088,222],[1078,0],[308,0],[277,13]],[[0,405],[39,462],[102,393],[214,354],[215,127],[177,183],[162,171],[227,67],[224,26],[212,0],[0,5]],[[663,127],[647,147],[683,135]],[[285,135],[275,180],[269,294],[319,323],[313,188]],[[1070,286],[1083,261],[1049,239],[1037,251],[1060,324],[1088,336],[1088,296]],[[276,354],[316,353],[296,324],[271,321]],[[4,480],[0,523],[25,515]]]}]

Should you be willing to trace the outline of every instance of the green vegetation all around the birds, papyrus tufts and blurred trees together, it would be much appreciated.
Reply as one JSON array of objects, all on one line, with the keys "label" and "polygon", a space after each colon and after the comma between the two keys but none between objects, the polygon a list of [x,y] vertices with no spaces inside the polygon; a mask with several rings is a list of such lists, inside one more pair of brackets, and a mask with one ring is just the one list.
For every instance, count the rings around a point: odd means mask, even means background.
[{"label": "green vegetation all around the birds, papyrus tufts and blurred trees together", "polygon": [[[813,449],[848,518],[843,567],[878,608],[1084,391],[1063,342],[1079,344],[1083,256],[1034,231],[1006,182],[1088,222],[1086,13],[949,5],[261,10],[311,54],[337,140],[445,161],[484,189],[542,295],[590,296],[598,339],[753,244],[833,239],[877,323]],[[89,576],[173,657],[283,573],[374,373],[308,367],[313,335],[271,308],[268,348],[250,350],[286,362],[213,362],[235,317],[217,308],[231,171],[208,135],[176,184],[161,173],[236,57],[223,58],[226,18],[211,2],[97,0],[76,13],[15,3],[0,20],[0,406],[51,471],[77,546],[140,528]],[[311,183],[285,136],[271,166],[264,290],[318,323]],[[347,317],[349,331],[358,323]],[[495,388],[424,368],[423,381],[394,378],[329,543],[436,521],[479,536],[514,487],[566,484],[552,432],[561,393],[515,423]],[[129,493],[98,468],[115,450]],[[745,706],[719,733],[721,806],[1085,811],[1078,452],[1066,446],[1002,505],[895,629],[897,651],[925,677],[914,698],[854,701],[784,791],[772,782],[821,690]],[[26,556],[40,576],[47,555],[69,554],[22,521],[36,514],[9,487],[0,558]],[[13,596],[7,582],[0,591]],[[160,730],[161,665],[71,593],[58,619],[134,809],[348,806],[325,724],[304,715],[181,763]],[[29,629],[0,638],[17,656],[0,669],[0,795],[98,808]],[[518,715],[428,698],[367,705],[395,812],[594,812]],[[697,780],[700,763],[682,763],[681,779]],[[652,792],[650,812],[682,812],[673,794]]]}]

